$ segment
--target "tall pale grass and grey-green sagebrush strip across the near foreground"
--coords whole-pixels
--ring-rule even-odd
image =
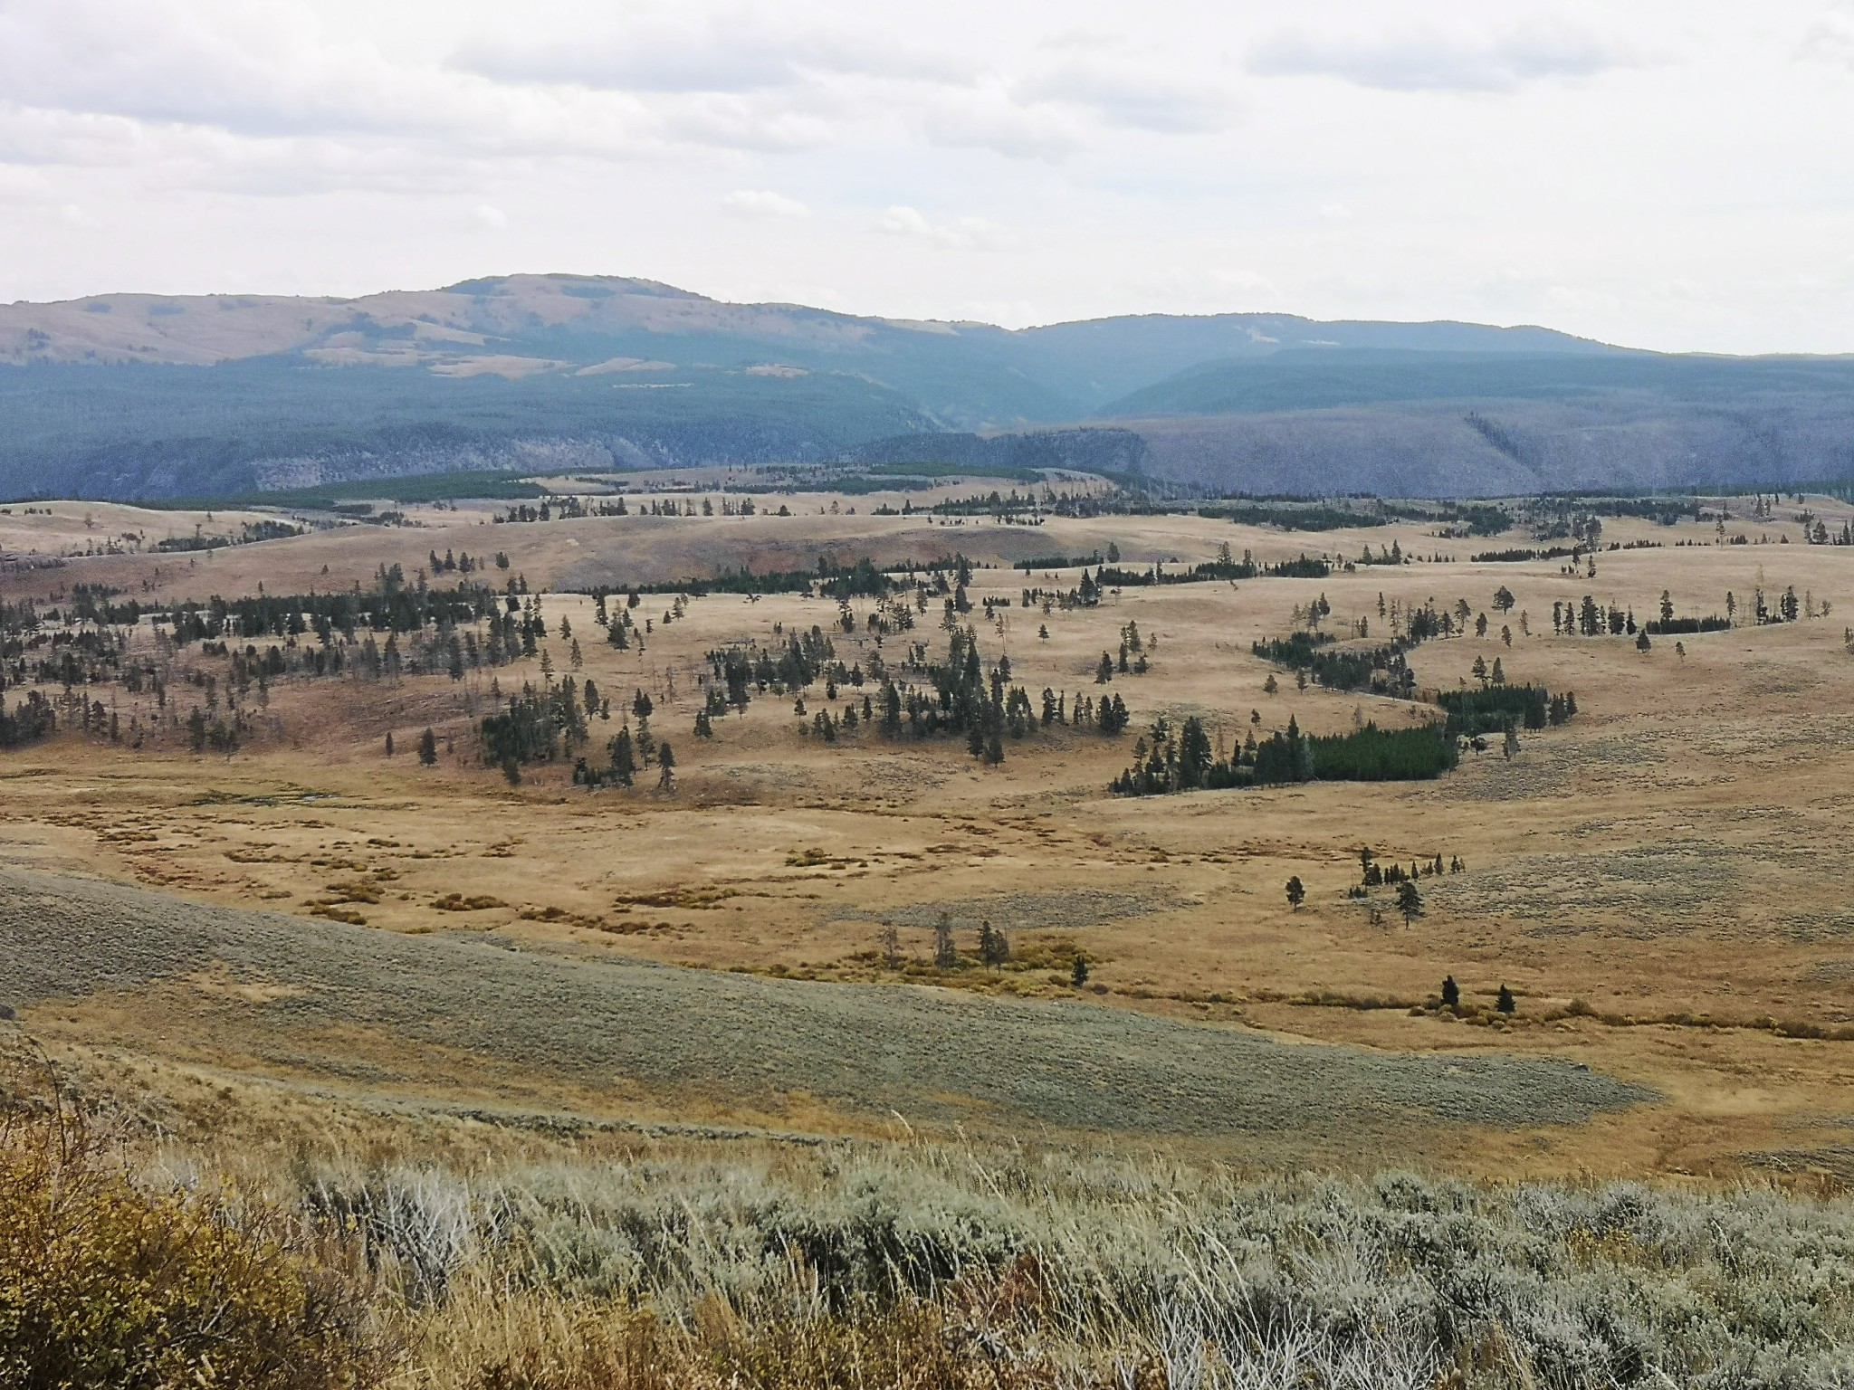
[[[9,1212],[70,1186],[7,1142]],[[391,1362],[412,1390],[1854,1386],[1854,1203],[1776,1190],[1244,1179],[929,1144],[467,1173],[83,1164],[137,1231],[167,1223],[158,1244],[219,1271],[235,1295],[213,1308],[319,1349],[313,1375],[206,1383],[371,1384]],[[74,1249],[85,1277],[121,1279],[124,1247]],[[44,1320],[20,1312],[56,1292],[20,1281],[33,1258],[0,1238],[0,1366],[22,1364],[17,1329]],[[323,1286],[345,1290],[339,1318],[310,1316]],[[208,1303],[165,1307],[184,1327]],[[89,1346],[89,1323],[63,1327]]]

